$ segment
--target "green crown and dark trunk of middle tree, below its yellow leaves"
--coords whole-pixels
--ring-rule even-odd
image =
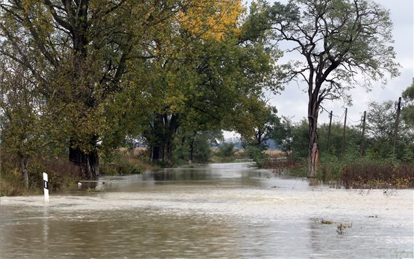
[[[189,40],[185,35],[177,37]],[[149,86],[146,91],[152,101],[146,103],[157,103],[142,122],[154,162],[171,160],[172,142],[180,127],[184,132],[224,128],[251,133],[250,125],[257,117],[251,111],[262,106],[263,87],[273,85],[276,55],[264,44],[240,43],[240,37],[228,33],[221,41],[191,39],[191,48],[177,53],[179,58],[148,60],[143,76],[131,71],[133,84],[145,81]]]

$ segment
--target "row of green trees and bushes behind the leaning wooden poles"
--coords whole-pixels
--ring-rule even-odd
[[[345,153],[354,157],[367,156],[372,159],[393,159],[402,162],[414,162],[414,83],[402,93],[404,106],[402,119],[397,128],[397,142],[393,151],[393,140],[397,107],[395,101],[388,100],[382,103],[371,102],[366,111],[366,131],[362,135],[362,121],[360,124],[346,126]],[[329,125],[322,124],[317,131],[319,152],[321,155],[342,156],[342,139],[344,131],[344,118],[342,122],[333,122],[328,146]],[[349,122],[349,121],[348,121]],[[276,129],[274,140],[282,146],[286,155],[293,158],[308,156],[306,145],[308,143],[308,124],[306,119],[293,122],[284,118]]]

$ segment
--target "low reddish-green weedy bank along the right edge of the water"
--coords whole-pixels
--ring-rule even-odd
[[[303,178],[306,178],[308,170],[306,159],[281,160],[273,157],[265,160],[263,165],[275,173]],[[369,157],[347,156],[341,159],[328,155],[319,160],[316,179],[346,189],[414,188],[414,164]]]

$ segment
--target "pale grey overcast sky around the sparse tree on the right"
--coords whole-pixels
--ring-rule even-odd
[[[394,23],[393,44],[395,52],[397,52],[396,61],[400,63],[400,77],[388,79],[388,84],[382,88],[380,83],[373,84],[373,90],[366,93],[364,88],[357,87],[351,90],[350,93],[353,99],[353,106],[348,107],[348,120],[346,124],[359,123],[364,111],[368,110],[369,102],[384,102],[386,100],[397,101],[401,96],[402,91],[411,85],[414,74],[414,5],[413,0],[374,0],[380,3],[384,8],[390,10],[391,19]],[[273,1],[270,1],[273,2]],[[282,3],[287,1],[282,0]],[[290,53],[285,53],[282,60],[286,61],[292,59],[289,57]],[[294,121],[307,117],[308,113],[308,96],[303,93],[306,86],[303,83],[293,83],[285,86],[285,90],[279,95],[268,93],[267,99],[269,103],[275,106],[279,117],[281,115],[293,117]],[[328,111],[333,111],[333,121],[339,121],[344,114],[344,103],[340,100],[331,102],[326,100],[323,103],[324,108]],[[343,122],[343,117],[342,120]],[[324,112],[319,115],[319,124],[329,122],[328,113]],[[232,133],[225,133],[225,137],[232,137]]]

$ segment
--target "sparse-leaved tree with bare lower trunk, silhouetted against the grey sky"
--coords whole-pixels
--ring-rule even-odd
[[[371,89],[398,75],[388,10],[369,0],[290,0],[268,8],[277,41],[293,46],[302,60],[282,66],[284,81],[299,79],[308,93],[308,177],[315,177],[317,119],[326,99],[347,99],[355,85]]]

